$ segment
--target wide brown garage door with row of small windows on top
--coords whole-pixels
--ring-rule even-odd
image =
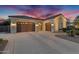
[[[35,24],[32,22],[17,22],[17,32],[35,31]]]

